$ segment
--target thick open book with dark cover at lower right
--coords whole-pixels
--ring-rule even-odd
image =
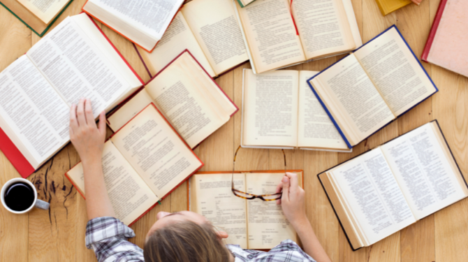
[[[319,174],[353,249],[468,196],[437,121]]]

